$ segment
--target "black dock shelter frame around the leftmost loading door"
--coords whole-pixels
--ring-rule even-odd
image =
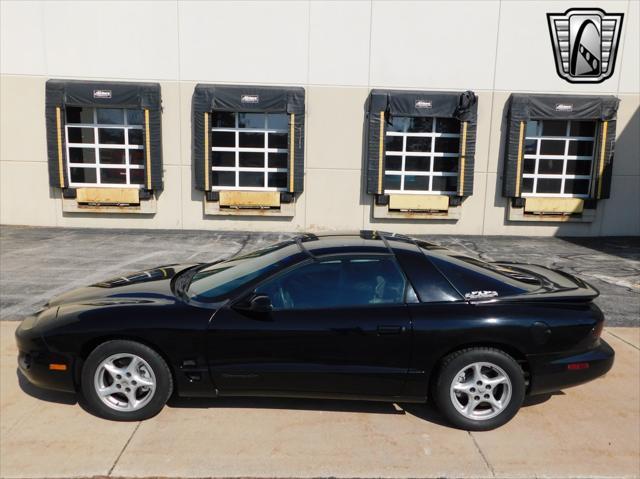
[[[68,188],[66,107],[130,108],[145,114],[145,188],[162,189],[162,97],[159,83],[48,80],[45,115],[49,184]]]

